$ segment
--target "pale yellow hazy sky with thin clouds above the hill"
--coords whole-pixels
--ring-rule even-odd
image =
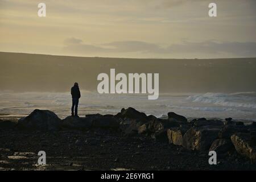
[[[38,4],[46,4],[46,17]],[[209,3],[217,17],[209,17]],[[0,51],[134,58],[256,57],[255,0],[0,0]]]

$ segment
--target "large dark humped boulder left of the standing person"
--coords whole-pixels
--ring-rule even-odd
[[[55,113],[49,110],[35,109],[27,117],[18,121],[18,127],[31,130],[59,130],[61,119]]]

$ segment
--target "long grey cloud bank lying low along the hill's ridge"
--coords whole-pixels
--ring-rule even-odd
[[[191,55],[217,55],[228,57],[253,57],[256,56],[256,42],[216,42],[208,40],[205,42],[183,42],[162,47],[157,44],[141,41],[110,42],[100,45],[85,44],[81,39],[68,38],[64,41],[66,45],[63,50],[69,53],[102,54],[112,53],[141,53],[142,55],[179,55],[189,57]],[[125,56],[124,56],[125,57]],[[214,56],[215,57],[215,56]]]

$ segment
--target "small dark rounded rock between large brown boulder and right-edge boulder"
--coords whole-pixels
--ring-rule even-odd
[[[209,151],[215,151],[218,154],[226,154],[234,151],[234,145],[230,139],[216,139],[210,146]]]

